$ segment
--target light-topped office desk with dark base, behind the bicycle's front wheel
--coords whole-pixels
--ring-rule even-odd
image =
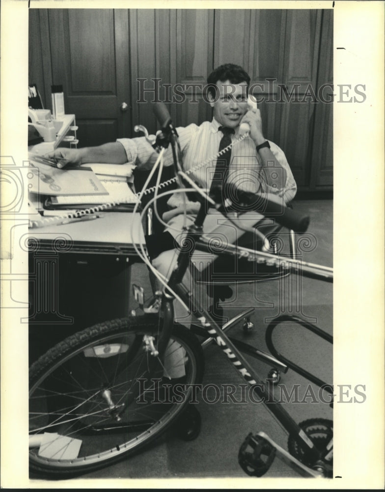
[[[31,360],[76,331],[129,314],[130,266],[140,261],[133,243],[145,244],[140,216],[100,214],[29,229]]]

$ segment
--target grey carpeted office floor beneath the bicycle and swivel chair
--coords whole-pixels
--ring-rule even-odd
[[[332,201],[299,200],[294,203],[299,212],[311,217],[307,233],[298,237],[300,254],[304,261],[332,266]],[[147,270],[142,264],[132,267],[132,281],[150,292]],[[284,283],[286,282],[286,283]],[[282,297],[282,292],[288,292]],[[291,293],[295,295],[292,296]],[[284,299],[285,306],[282,306]],[[135,301],[133,301],[135,302]],[[271,319],[282,312],[300,316],[305,321],[332,333],[332,284],[296,275],[285,280],[274,280],[255,284],[240,284],[233,298],[222,304],[224,314],[232,316],[242,308],[255,307],[251,314],[254,330],[245,334],[242,321],[230,330],[230,335],[247,341],[260,350],[268,351],[265,331]],[[278,352],[287,355],[325,382],[332,382],[331,345],[304,330],[298,324],[282,324],[274,336]],[[205,350],[206,369],[203,384],[215,383],[236,386],[235,395],[241,400],[243,380],[234,371],[217,346]],[[249,359],[261,378],[266,378],[270,367],[255,359]],[[319,390],[315,385],[293,370],[282,374],[279,387],[285,386],[290,393],[298,385],[299,401],[289,402],[285,408],[296,422],[320,417],[332,419],[332,409],[320,402]],[[150,449],[113,464],[102,470],[88,473],[82,478],[197,478],[197,477],[246,477],[238,464],[238,451],[249,432],[264,431],[280,446],[287,449],[287,434],[265,405],[246,399],[236,404],[223,402],[208,403],[200,398],[197,406],[202,417],[199,436],[190,442],[165,434]],[[325,397],[327,399],[327,397]],[[245,400],[244,400],[245,401]],[[276,459],[268,472],[269,477],[295,477],[296,473],[285,463]]]

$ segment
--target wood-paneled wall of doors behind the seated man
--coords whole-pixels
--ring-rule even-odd
[[[155,132],[154,91],[141,94],[140,86],[159,84],[161,100],[167,91],[175,96],[169,109],[177,125],[211,119],[196,84],[204,87],[221,63],[240,64],[258,84],[265,136],[284,150],[298,185],[330,189],[331,105],[314,103],[309,86],[317,95],[332,83],[332,33],[332,11],[319,9],[31,9],[29,80],[46,107],[51,84],[63,84],[66,112],[76,114],[86,146],[135,136],[138,123]],[[297,101],[279,102],[279,84],[297,91]]]

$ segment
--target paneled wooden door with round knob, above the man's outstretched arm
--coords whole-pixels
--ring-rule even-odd
[[[63,85],[65,112],[76,115],[80,146],[129,136],[127,9],[49,9],[41,14],[49,30],[51,83]],[[46,87],[47,107],[51,107],[50,89]]]

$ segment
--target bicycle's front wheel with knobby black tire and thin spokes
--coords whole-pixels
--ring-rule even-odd
[[[182,401],[173,401],[159,381],[171,373],[171,364],[143,350],[145,336],[156,342],[158,332],[156,314],[107,321],[59,342],[32,364],[32,472],[59,478],[104,467],[145,447],[181,415],[189,390]],[[185,383],[201,382],[204,357],[196,337],[175,325],[167,361],[174,347],[185,351]],[[45,440],[31,447],[44,433]]]

